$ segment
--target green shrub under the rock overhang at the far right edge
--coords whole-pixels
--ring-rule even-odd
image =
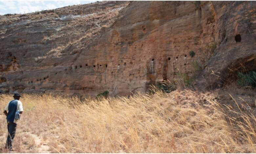
[[[240,87],[256,87],[256,72],[250,71],[248,73],[238,72],[237,85]]]

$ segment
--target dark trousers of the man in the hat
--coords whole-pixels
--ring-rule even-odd
[[[7,121],[8,137],[5,144],[5,148],[9,150],[12,149],[13,138],[16,133],[16,126],[17,124]]]

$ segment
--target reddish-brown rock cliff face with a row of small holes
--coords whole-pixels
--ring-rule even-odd
[[[217,48],[195,85],[216,87],[239,62],[256,70],[255,14],[254,1],[104,1],[0,16],[0,92],[146,91],[179,73],[190,78],[211,42]]]

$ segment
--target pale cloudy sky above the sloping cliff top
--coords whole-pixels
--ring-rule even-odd
[[[100,0],[98,0],[100,1]],[[0,15],[23,14],[41,10],[51,10],[77,4],[88,4],[96,1],[1,1]]]

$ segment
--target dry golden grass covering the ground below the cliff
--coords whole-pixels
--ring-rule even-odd
[[[12,97],[0,97],[3,111]],[[82,101],[23,94],[15,152],[255,153],[255,116],[215,98],[188,90]],[[4,116],[0,122],[4,147]]]

